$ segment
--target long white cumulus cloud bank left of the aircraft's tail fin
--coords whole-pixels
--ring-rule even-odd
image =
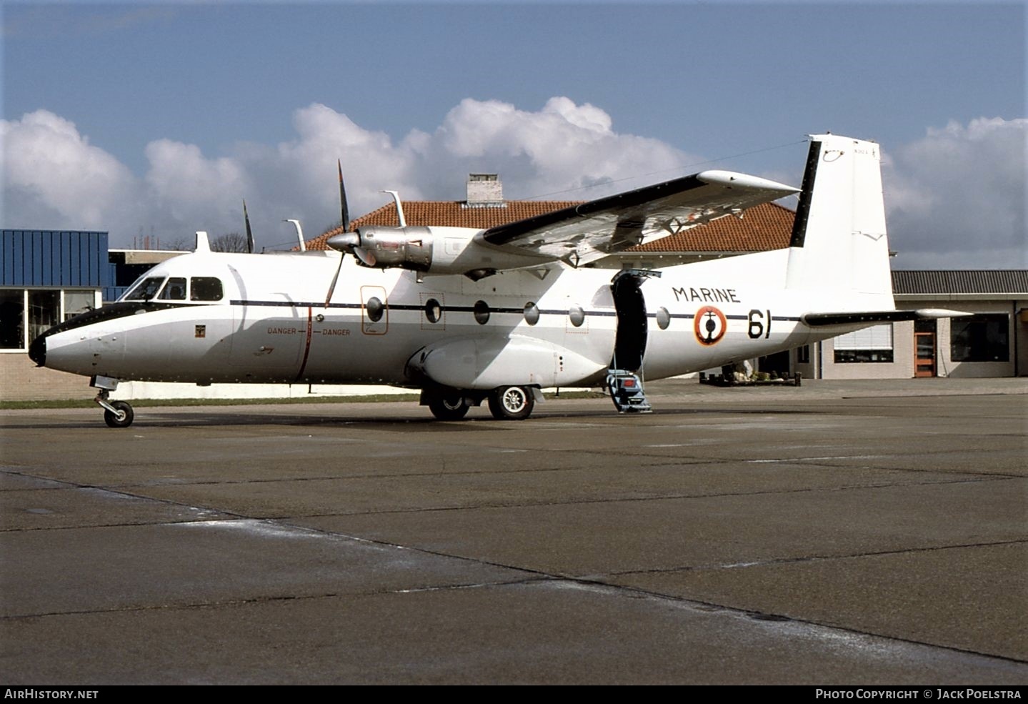
[[[320,104],[296,110],[293,127],[291,141],[241,143],[218,156],[157,139],[138,177],[53,113],[4,121],[4,225],[106,229],[119,247],[153,231],[168,243],[195,229],[241,230],[245,197],[258,244],[270,245],[291,237],[283,218],[300,218],[308,236],[338,219],[336,158],[354,216],[386,203],[386,188],[405,199],[458,199],[472,172],[499,173],[508,197],[586,199],[657,180],[646,175],[693,158],[619,135],[605,112],[567,98],[537,112],[468,99],[435,132],[411,131],[399,142]],[[636,178],[612,185],[626,175]],[[595,184],[605,188],[587,188]]]

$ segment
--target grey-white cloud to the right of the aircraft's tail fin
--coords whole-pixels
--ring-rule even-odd
[[[930,128],[890,150],[883,180],[898,268],[1023,268],[1028,119]]]

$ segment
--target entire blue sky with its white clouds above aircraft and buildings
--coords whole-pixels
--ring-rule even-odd
[[[800,141],[830,129],[889,157],[892,246],[916,253],[902,264],[1025,265],[1022,3],[2,11],[4,227],[174,239],[238,229],[247,197],[278,240],[284,217],[328,224],[337,156],[357,212],[383,188],[458,199],[479,170],[509,197],[585,199],[711,164],[798,184]],[[45,183],[26,175],[40,159]]]

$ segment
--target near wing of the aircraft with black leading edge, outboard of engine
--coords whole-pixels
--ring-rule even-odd
[[[480,236],[518,254],[579,266],[799,190],[756,176],[705,171],[498,225]]]

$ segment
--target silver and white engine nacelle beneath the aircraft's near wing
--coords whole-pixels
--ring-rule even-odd
[[[350,252],[365,266],[404,268],[432,274],[463,273],[475,281],[500,269],[539,266],[548,258],[505,251],[483,243],[481,230],[466,227],[386,227],[371,225],[328,238],[328,246]]]

